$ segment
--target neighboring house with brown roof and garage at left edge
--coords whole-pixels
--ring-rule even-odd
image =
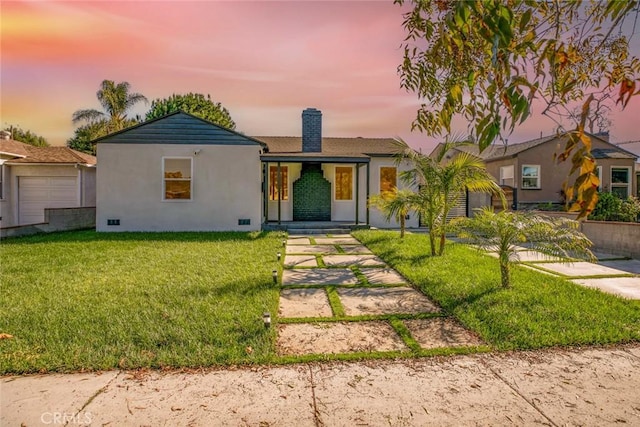
[[[45,208],[96,204],[96,158],[68,147],[0,139],[0,227],[44,222]]]

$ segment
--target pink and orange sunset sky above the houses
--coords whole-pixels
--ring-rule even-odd
[[[3,0],[0,13],[1,125],[54,145],[73,135],[74,111],[100,108],[104,79],[150,101],[211,94],[247,135],[298,136],[302,110],[316,107],[324,136],[401,137],[425,150],[436,142],[411,132],[419,101],[400,88],[402,9],[391,0]],[[640,96],[611,118],[613,142],[639,140]],[[534,115],[509,141],[554,128]]]

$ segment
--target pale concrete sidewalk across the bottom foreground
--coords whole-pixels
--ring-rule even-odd
[[[640,344],[3,377],[0,425],[640,425]]]

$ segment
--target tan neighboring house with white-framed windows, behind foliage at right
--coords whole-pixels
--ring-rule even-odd
[[[590,135],[591,154],[596,160],[600,189],[622,198],[635,195],[635,163],[638,156],[609,143],[608,134]],[[567,135],[553,135],[519,144],[491,145],[478,154],[475,146],[459,150],[479,155],[498,184],[513,188],[518,208],[563,203],[562,183],[567,180],[571,159],[558,163],[554,153],[564,149]],[[436,147],[437,149],[437,147]],[[572,175],[570,183],[576,178]]]

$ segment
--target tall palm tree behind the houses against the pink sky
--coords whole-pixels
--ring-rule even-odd
[[[104,121],[105,135],[138,123],[138,120],[128,118],[127,113],[139,102],[146,104],[147,98],[140,93],[130,93],[130,89],[128,82],[116,84],[112,80],[103,80],[96,96],[104,112],[95,109],[78,110],[73,113],[73,123],[95,124]]]

